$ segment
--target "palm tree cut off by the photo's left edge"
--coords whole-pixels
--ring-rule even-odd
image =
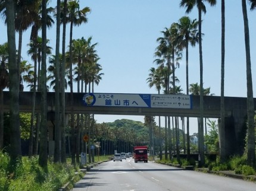
[[[8,44],[0,44],[0,150],[4,147],[4,88],[9,86]]]

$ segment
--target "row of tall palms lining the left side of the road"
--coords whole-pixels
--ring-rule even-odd
[[[8,4],[9,2],[11,2],[11,4]],[[10,6],[7,6],[10,5]],[[15,8],[14,8],[15,7]],[[90,9],[88,7],[80,9],[79,8],[79,1],[64,1],[64,2],[57,2],[57,42],[56,42],[56,55],[55,55],[55,65],[54,67],[56,67],[57,69],[55,69],[54,72],[54,89],[57,92],[57,94],[59,94],[59,92],[62,93],[61,96],[61,100],[65,100],[64,98],[64,92],[65,92],[65,87],[67,85],[67,83],[65,82],[65,61],[66,59],[62,59],[61,61],[61,65],[60,65],[60,55],[59,55],[59,33],[60,33],[60,23],[63,24],[63,41],[65,42],[65,24],[66,23],[70,23],[71,27],[70,27],[70,44],[71,46],[73,46],[72,43],[72,30],[73,30],[73,26],[79,26],[82,23],[86,23],[88,21],[88,18],[86,18],[86,14],[90,11]],[[21,62],[21,49],[18,50],[18,59],[15,61],[14,63],[14,59],[16,58],[16,56],[12,57],[12,63],[9,61],[9,65],[8,67],[13,69],[13,66],[17,66],[17,77],[18,79],[20,79],[20,83],[19,84],[23,84],[23,80],[26,82],[30,83],[30,89],[35,91],[41,91],[41,111],[42,113],[40,113],[40,115],[38,114],[37,116],[40,116],[40,119],[37,119],[37,122],[40,122],[40,154],[39,154],[39,163],[40,165],[42,165],[43,167],[46,166],[46,151],[47,151],[47,144],[46,144],[46,132],[47,129],[45,128],[46,126],[46,91],[48,90],[48,87],[46,86],[46,80],[47,78],[52,78],[52,77],[46,77],[46,55],[49,54],[48,52],[48,46],[46,45],[48,40],[46,39],[46,27],[51,27],[52,24],[54,23],[54,20],[52,20],[51,18],[51,13],[54,11],[53,8],[49,7],[48,8],[48,1],[42,1],[42,0],[38,0],[38,1],[1,1],[0,2],[0,11],[3,15],[6,15],[6,20],[5,22],[8,24],[8,34],[13,34],[15,33],[15,29],[16,31],[19,32],[20,36],[19,36],[19,48],[21,47],[21,43],[22,43],[22,32],[27,30],[27,28],[29,28],[30,26],[32,27],[32,32],[31,32],[31,37],[30,40],[31,42],[29,43],[30,46],[30,50],[29,50],[29,54],[32,55],[32,60],[34,61],[34,70],[35,71],[30,71],[29,74],[26,75],[26,77],[24,78],[20,78],[20,74],[22,74],[23,72],[20,72],[20,65],[24,65],[23,62]],[[15,13],[14,15],[15,20],[11,17],[10,12],[8,11],[17,11],[17,13]],[[15,23],[11,23],[11,21],[14,20]],[[10,23],[9,23],[10,22]],[[14,25],[14,29],[12,28]],[[38,31],[42,29],[42,38],[38,37]],[[10,33],[9,33],[10,30]],[[11,31],[13,30],[13,31]],[[11,33],[13,32],[13,33]],[[83,58],[83,65],[81,66],[81,71],[85,71],[83,72],[83,74],[79,74],[79,78],[82,79],[82,84],[85,85],[89,85],[92,84],[92,88],[93,88],[93,84],[97,84],[99,83],[99,81],[101,80],[101,75],[103,75],[102,73],[100,73],[101,71],[101,65],[98,64],[99,58],[98,55],[96,55],[95,49],[94,47],[96,46],[96,44],[90,44],[90,40],[92,38],[90,37],[88,39],[88,41],[86,42],[86,46],[88,46],[89,44],[89,48],[86,49],[87,52],[85,52],[85,54],[83,55],[85,58]],[[12,42],[11,40],[8,41],[8,43],[10,44],[9,50],[15,50],[13,48],[14,46],[14,42]],[[13,43],[13,44],[12,44]],[[70,47],[71,47],[70,46]],[[11,48],[10,48],[11,47]],[[65,51],[65,43],[63,43],[63,50]],[[12,55],[11,53],[8,53],[8,55]],[[65,58],[65,53],[63,54],[63,58]],[[70,73],[73,72],[73,50],[70,48]],[[86,63],[87,62],[87,63]],[[13,64],[13,65],[12,65]],[[60,69],[58,69],[61,66],[61,74],[58,74],[58,71],[60,71]],[[89,68],[87,66],[89,66]],[[8,86],[9,84],[9,80],[5,80],[4,82],[4,74],[8,74],[10,72],[8,72],[8,69],[6,67],[4,67],[4,65],[1,65],[1,91],[4,90],[5,87]],[[5,65],[7,66],[7,65]],[[31,69],[31,66],[30,66]],[[13,70],[15,71],[15,69]],[[8,77],[12,76],[13,77],[14,74],[8,74]],[[32,77],[33,75],[33,77]],[[5,75],[7,77],[7,75]],[[70,75],[70,85],[71,85],[71,92],[73,90],[73,74]],[[90,77],[89,77],[90,76]],[[39,78],[40,77],[40,78]],[[8,79],[8,78],[5,78]],[[14,85],[14,78],[10,79],[10,84]],[[52,78],[53,79],[53,78]],[[7,84],[8,82],[8,84]],[[79,79],[80,82],[80,79]],[[32,84],[33,83],[33,84]],[[4,85],[5,84],[5,85]],[[58,85],[60,84],[61,86],[61,90],[58,90]],[[83,85],[81,85],[83,88]],[[63,88],[64,87],[64,88]],[[80,87],[80,85],[79,85]],[[86,88],[85,88],[86,89]],[[10,91],[14,90],[14,86],[10,87]],[[15,90],[17,90],[17,88],[15,88]],[[12,92],[13,93],[13,92]],[[33,93],[33,100],[35,100],[35,93]],[[57,95],[56,94],[56,95]],[[1,94],[0,94],[1,95]],[[14,96],[14,94],[12,94]],[[17,94],[16,94],[17,95]],[[58,96],[58,95],[57,95]],[[1,96],[2,97],[2,96]],[[14,96],[14,98],[17,100],[17,97]],[[56,98],[56,100],[60,100],[59,98]],[[57,101],[56,101],[57,102]],[[17,104],[17,101],[13,101],[14,104]],[[30,146],[29,146],[29,155],[32,155],[32,148],[33,148],[33,142],[38,142],[38,141],[33,141],[33,133],[34,132],[34,125],[35,123],[33,122],[33,119],[35,118],[35,101],[33,101],[33,105],[34,105],[34,112],[32,112],[32,120],[31,120],[31,136],[30,136]],[[61,107],[62,110],[64,109],[64,101],[61,101]],[[15,111],[17,112],[17,107],[15,107]],[[58,110],[58,109],[57,109]],[[57,112],[59,113],[59,112]],[[0,112],[0,130],[1,130],[1,136],[3,135],[2,133],[2,116],[3,116],[3,111],[1,110]],[[12,115],[12,116],[15,116]],[[57,116],[56,119],[62,119],[62,123],[61,123],[61,131],[57,130],[57,132],[61,132],[61,139],[65,141],[65,120],[63,120],[65,117],[64,112],[63,115]],[[14,120],[15,122],[17,122],[18,124],[18,120]],[[13,126],[15,126],[17,128],[17,124],[13,124]],[[57,125],[60,126],[60,125]],[[14,128],[13,128],[14,130]],[[16,131],[17,129],[16,129]],[[15,134],[18,136],[18,134]],[[37,130],[37,135],[39,135],[39,130]],[[57,135],[55,133],[55,135]],[[20,137],[20,136],[19,136]],[[59,137],[59,138],[58,138]],[[2,146],[2,138],[0,137],[0,146],[1,148]],[[17,155],[13,155],[14,157],[17,157],[18,155],[20,155],[20,152],[16,152],[18,151],[17,149],[20,148],[20,144],[17,144],[18,141],[20,139],[15,139],[14,141],[14,149],[12,149],[12,151],[14,151],[15,154]],[[60,140],[60,136],[57,135],[57,140]],[[63,142],[64,142],[63,141]],[[58,144],[55,144],[58,145]],[[65,154],[63,154],[63,145],[65,144],[61,144],[62,148],[61,148],[61,157],[58,154],[58,151],[60,151],[60,148],[55,148],[55,151],[57,151],[57,155],[55,156],[55,161],[61,161],[65,162]],[[16,149],[17,148],[17,149]],[[36,152],[35,152],[36,153]],[[12,158],[13,161],[15,161],[14,158]],[[74,161],[74,160],[73,160]]]

